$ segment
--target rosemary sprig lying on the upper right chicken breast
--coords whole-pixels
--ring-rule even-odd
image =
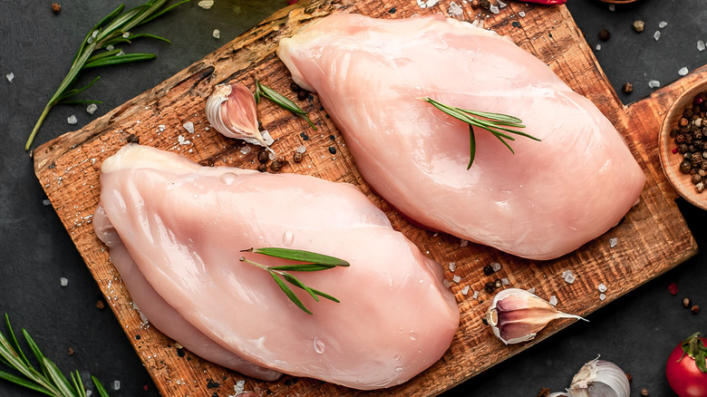
[[[476,138],[474,137],[474,127],[482,128],[493,134],[498,140],[503,143],[511,153],[515,154],[513,148],[507,140],[516,140],[513,136],[508,135],[505,132],[512,134],[517,134],[530,138],[531,140],[540,140],[526,132],[518,131],[518,129],[525,128],[526,126],[522,124],[523,121],[518,119],[518,117],[509,116],[508,114],[502,113],[490,113],[488,111],[470,111],[468,109],[456,108],[450,105],[445,105],[444,103],[437,102],[429,97],[421,98],[424,102],[430,102],[435,108],[444,111],[451,117],[454,117],[460,121],[464,121],[469,124],[469,140],[470,140],[470,159],[467,169],[471,168],[471,164],[474,162],[476,157]],[[504,132],[505,131],[505,132]]]

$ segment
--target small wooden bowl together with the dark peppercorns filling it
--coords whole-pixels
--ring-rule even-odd
[[[673,102],[658,139],[663,172],[673,188],[707,209],[707,81],[692,85]]]

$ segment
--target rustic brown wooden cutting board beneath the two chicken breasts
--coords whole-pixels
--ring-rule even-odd
[[[481,10],[464,4],[461,19],[473,21],[481,15],[485,27],[512,37],[523,49],[547,63],[576,92],[595,102],[624,135],[647,175],[647,182],[640,202],[622,223],[576,252],[547,262],[511,257],[489,247],[465,245],[459,238],[410,225],[373,194],[356,169],[344,139],[315,96],[300,104],[310,111],[318,131],[309,129],[304,121],[272,103],[262,102],[258,107],[260,121],[276,139],[273,149],[278,155],[290,160],[297,147],[306,148],[302,162],[290,161],[280,172],[309,174],[357,185],[386,212],[394,228],[444,266],[461,312],[460,328],[449,351],[411,382],[383,391],[360,392],[290,376],[278,382],[252,380],[200,360],[143,322],[111,265],[107,250],[93,233],[91,220],[99,199],[102,160],[119,150],[127,140],[137,138],[141,144],[175,151],[204,165],[255,169],[256,148],[247,152],[245,148],[250,147],[243,142],[225,139],[208,126],[204,104],[214,85],[238,81],[252,89],[253,78],[257,76],[277,91],[293,97],[289,73],[277,59],[275,50],[279,38],[291,35],[302,24],[342,12],[381,18],[446,14],[449,4],[449,0],[443,0],[430,8],[421,8],[412,0],[301,2],[276,13],[247,34],[82,130],[66,133],[34,150],[37,178],[162,395],[200,397],[213,392],[229,395],[235,382],[240,380],[246,381],[247,390],[255,390],[263,396],[439,394],[573,322],[553,322],[528,344],[501,344],[481,322],[491,298],[484,291],[485,283],[497,278],[507,279],[510,286],[535,288],[536,294],[546,299],[555,295],[557,307],[565,312],[588,315],[696,252],[692,234],[673,201],[676,194],[663,176],[657,134],[664,112],[673,99],[686,84],[707,76],[707,67],[664,87],[650,98],[625,107],[565,6],[508,2],[508,7],[493,15],[479,14]],[[183,128],[188,121],[194,123],[194,133]],[[336,150],[335,154],[330,148]],[[454,272],[448,269],[451,262],[456,264]],[[498,262],[502,268],[492,276],[485,276],[482,268],[492,262]],[[576,276],[573,284],[562,278],[566,270]],[[459,276],[460,281],[454,282],[454,276]],[[604,300],[597,290],[599,284],[607,287]],[[462,292],[465,286],[470,287],[467,295]],[[473,297],[474,291],[479,291],[477,298]]]

